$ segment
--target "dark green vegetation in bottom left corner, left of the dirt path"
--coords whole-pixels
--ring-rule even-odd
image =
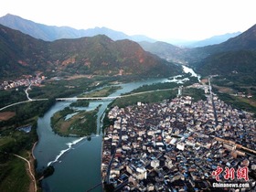
[[[16,155],[27,155],[37,141],[36,124],[30,133],[16,129],[1,130],[0,136],[0,191],[28,191],[29,176],[25,162]],[[10,185],[11,184],[11,185]]]

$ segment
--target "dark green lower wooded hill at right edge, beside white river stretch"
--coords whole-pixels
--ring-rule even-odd
[[[234,84],[256,85],[256,51],[238,50],[214,54],[197,64],[203,75],[221,76]]]

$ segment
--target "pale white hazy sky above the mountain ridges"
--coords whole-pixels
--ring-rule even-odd
[[[204,39],[256,24],[255,0],[2,0],[7,13],[49,26],[108,27],[157,40]]]

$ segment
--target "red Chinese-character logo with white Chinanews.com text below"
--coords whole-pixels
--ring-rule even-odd
[[[211,176],[215,176],[217,181],[212,184],[212,187],[215,188],[250,188],[247,166],[239,167],[237,170],[235,170],[235,168],[225,167],[224,170],[218,165],[216,170],[212,172]],[[225,182],[220,182],[220,176],[223,176]],[[227,181],[231,182],[229,183]],[[233,183],[232,181],[236,181],[236,183]]]

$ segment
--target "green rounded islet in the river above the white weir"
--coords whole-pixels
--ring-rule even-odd
[[[62,136],[84,136],[96,133],[98,109],[99,107],[90,112],[74,113],[74,110],[66,107],[51,117],[53,131]],[[73,116],[66,120],[68,114],[72,114]]]

